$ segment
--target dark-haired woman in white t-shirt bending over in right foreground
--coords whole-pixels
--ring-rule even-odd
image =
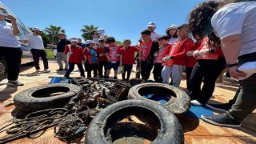
[[[256,61],[256,2],[226,0],[202,2],[190,13],[190,28],[202,28],[203,35],[214,35],[212,42],[221,42],[229,73],[233,78],[246,77],[238,66]],[[196,14],[206,13],[199,18]],[[238,62],[238,63],[237,63]],[[256,74],[240,80],[236,101],[225,114],[202,115],[202,119],[218,126],[239,127],[240,122],[256,108]]]

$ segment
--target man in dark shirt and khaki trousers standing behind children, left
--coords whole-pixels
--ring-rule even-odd
[[[63,64],[62,64],[62,60],[65,62],[65,69],[67,70],[68,68],[68,63],[66,61],[66,55],[64,54],[64,50],[65,50],[65,46],[70,44],[70,41],[66,39],[66,34],[62,33],[62,32],[58,32],[58,38],[59,41],[57,43],[57,63],[59,66],[59,69],[56,71],[62,71],[63,70]]]

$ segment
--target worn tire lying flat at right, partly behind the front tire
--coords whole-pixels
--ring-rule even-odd
[[[170,98],[170,101],[166,102],[166,104],[162,104],[173,114],[183,114],[189,110],[191,106],[190,97],[183,90],[162,83],[142,83],[137,86],[133,86],[129,90],[128,98],[155,102],[153,100],[143,98],[142,95],[144,94],[168,94],[170,97],[174,97]]]

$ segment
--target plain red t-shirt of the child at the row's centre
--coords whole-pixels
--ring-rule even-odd
[[[120,54],[122,54],[122,64],[123,65],[130,65],[135,63],[135,52],[139,49],[134,46],[129,46],[128,49],[122,47],[120,49]]]

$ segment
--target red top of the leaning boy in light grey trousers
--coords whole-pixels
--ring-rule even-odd
[[[169,62],[166,62],[166,66],[182,65],[186,66],[186,52],[190,51],[194,45],[191,38],[178,39],[171,45],[169,56],[174,56]]]

